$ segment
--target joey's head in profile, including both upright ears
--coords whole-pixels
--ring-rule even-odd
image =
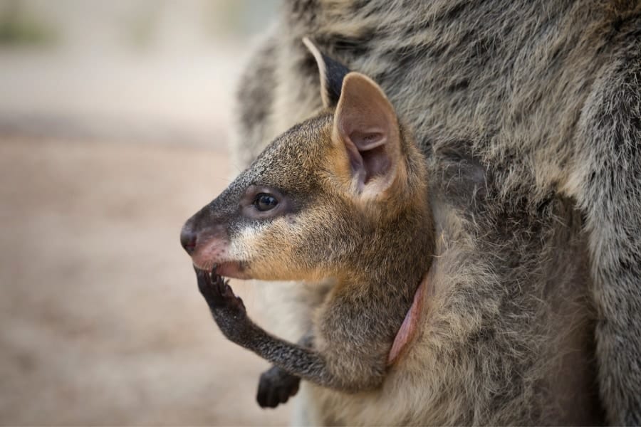
[[[424,159],[383,91],[306,44],[325,108],[189,218],[181,243],[197,268],[262,280],[350,274],[427,206]]]

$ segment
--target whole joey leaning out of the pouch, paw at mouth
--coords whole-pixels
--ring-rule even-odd
[[[181,235],[222,332],[276,365],[264,381],[286,384],[276,398],[264,390],[264,406],[295,393],[296,377],[350,392],[380,386],[411,335],[434,245],[425,159],[389,100],[306,44],[325,108],[276,138]],[[334,285],[293,344],[252,322],[221,276]]]

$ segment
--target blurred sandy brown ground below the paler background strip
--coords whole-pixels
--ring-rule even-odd
[[[0,137],[0,424],[287,423],[291,404],[254,403],[267,364],[222,337],[179,246],[231,167],[223,151]]]

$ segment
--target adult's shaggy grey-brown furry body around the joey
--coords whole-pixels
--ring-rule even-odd
[[[377,391],[303,384],[297,422],[640,424],[640,2],[285,1],[237,163],[320,107],[304,36],[385,90],[440,200],[417,342]]]

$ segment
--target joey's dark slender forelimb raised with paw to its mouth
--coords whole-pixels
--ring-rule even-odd
[[[325,359],[313,349],[273,337],[249,319],[245,306],[226,281],[216,274],[195,268],[198,288],[209,305],[214,321],[232,342],[251,350],[284,371],[320,386],[358,391],[371,384],[354,384],[335,376]]]

